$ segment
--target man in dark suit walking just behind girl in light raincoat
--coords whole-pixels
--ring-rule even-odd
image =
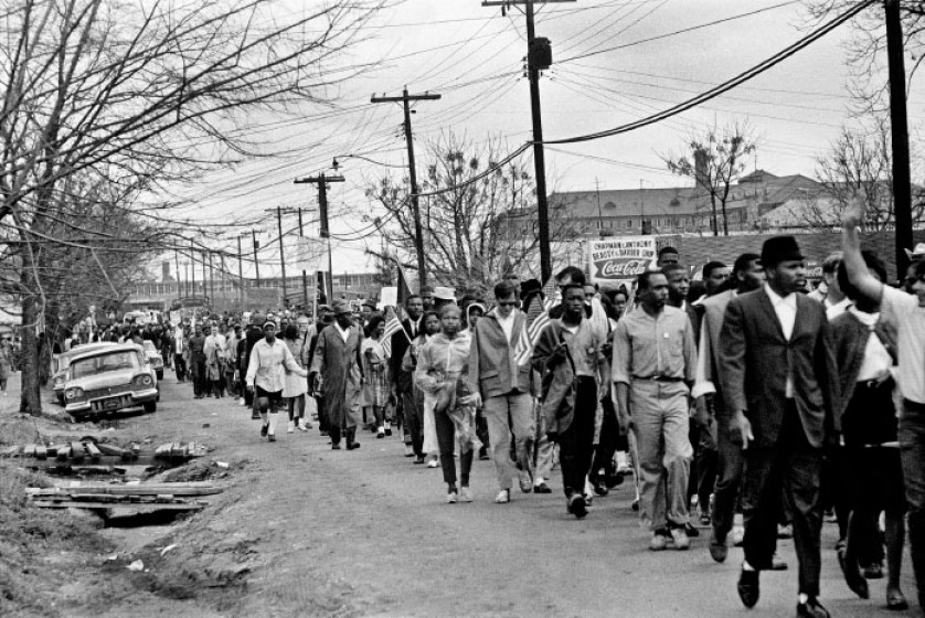
[[[424,464],[424,417],[417,414],[414,403],[414,387],[411,373],[402,370],[411,342],[421,334],[424,322],[424,301],[417,295],[405,299],[407,318],[402,320],[402,330],[392,334],[392,355],[389,356],[389,373],[392,376],[392,387],[397,402],[396,414],[402,417],[402,433],[405,440],[405,457],[416,455],[416,464]],[[423,413],[423,411],[421,411]]]

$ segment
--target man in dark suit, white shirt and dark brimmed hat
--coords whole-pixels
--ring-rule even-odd
[[[828,618],[817,597],[822,447],[838,430],[829,324],[821,305],[797,292],[806,268],[793,236],[766,241],[762,264],[767,283],[730,301],[720,334],[723,414],[745,449],[738,595],[746,607],[758,600],[758,572],[772,568],[783,494],[799,561],[797,616]]]

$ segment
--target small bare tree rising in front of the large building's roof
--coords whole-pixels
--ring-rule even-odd
[[[726,202],[732,185],[745,171],[746,158],[756,147],[747,122],[736,121],[691,135],[687,143],[690,154],[661,157],[671,173],[694,181],[698,202],[709,198],[710,227],[714,236],[720,234],[717,216],[722,216],[723,235],[729,236]]]

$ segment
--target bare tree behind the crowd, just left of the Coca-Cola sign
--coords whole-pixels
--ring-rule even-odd
[[[483,295],[499,277],[529,270],[539,249],[530,223],[535,221],[535,184],[519,162],[493,163],[507,151],[503,146],[449,134],[430,143],[425,156],[422,192],[442,192],[421,198],[424,257],[437,280],[462,292]],[[401,255],[415,255],[407,179],[385,175],[366,195],[385,210],[380,223],[386,243]],[[555,236],[562,225],[551,215]]]

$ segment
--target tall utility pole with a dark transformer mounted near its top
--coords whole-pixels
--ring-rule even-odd
[[[533,4],[574,2],[575,0],[486,0],[482,7],[508,7],[523,4],[527,15],[527,74],[530,78],[530,111],[533,117],[533,162],[536,175],[536,223],[540,232],[540,273],[545,284],[552,277],[550,249],[550,207],[546,198],[546,161],[543,152],[543,116],[540,109],[540,71],[552,65],[552,49],[549,39],[536,38]]]

